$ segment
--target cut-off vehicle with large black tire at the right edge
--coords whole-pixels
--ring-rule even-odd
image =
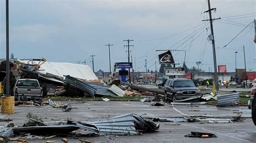
[[[249,109],[252,109],[252,120],[254,125],[256,125],[256,85],[251,89],[251,98],[248,101],[248,106]]]

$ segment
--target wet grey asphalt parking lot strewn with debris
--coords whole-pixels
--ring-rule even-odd
[[[9,115],[15,125],[22,126],[26,121],[26,113],[32,112],[34,115],[41,117],[45,124],[56,124],[58,121],[51,119],[72,119],[76,121],[97,121],[102,118],[109,118],[125,113],[137,113],[144,117],[178,117],[181,116],[172,108],[172,105],[151,106],[149,102],[104,102],[91,101],[86,103],[71,103],[73,109],[70,112],[63,112],[61,109],[45,106],[16,106],[16,112]],[[175,105],[175,107],[187,115],[203,116],[237,116],[242,111],[243,117],[251,117],[251,110],[245,106],[217,108],[210,105]],[[6,116],[1,114],[2,117]],[[0,122],[0,126],[8,123]],[[95,142],[255,142],[256,127],[251,119],[233,123],[210,124],[199,122],[180,123],[181,125],[171,125],[170,122],[161,122],[160,129],[157,132],[143,133],[143,135],[106,135],[101,137],[82,137],[86,140]],[[184,135],[190,132],[209,132],[217,135],[218,138],[187,138]],[[79,142],[77,139],[66,137],[69,142]],[[56,142],[62,142],[61,138],[50,139]],[[46,140],[28,140],[29,142],[45,142]]]

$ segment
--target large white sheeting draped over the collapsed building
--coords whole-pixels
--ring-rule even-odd
[[[33,61],[32,63],[32,61],[28,60],[19,61],[28,64],[37,64],[39,62]],[[83,80],[98,80],[98,77],[93,73],[92,69],[89,66],[79,65],[76,63],[46,61],[37,71],[42,74],[50,73],[60,77],[70,75]]]

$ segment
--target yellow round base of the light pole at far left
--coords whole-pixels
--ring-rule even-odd
[[[1,112],[2,113],[14,113],[14,96],[2,96],[2,105],[1,105]]]

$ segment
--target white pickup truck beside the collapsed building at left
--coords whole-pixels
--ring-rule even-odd
[[[14,95],[18,101],[42,99],[42,88],[36,79],[24,78],[17,80]]]

